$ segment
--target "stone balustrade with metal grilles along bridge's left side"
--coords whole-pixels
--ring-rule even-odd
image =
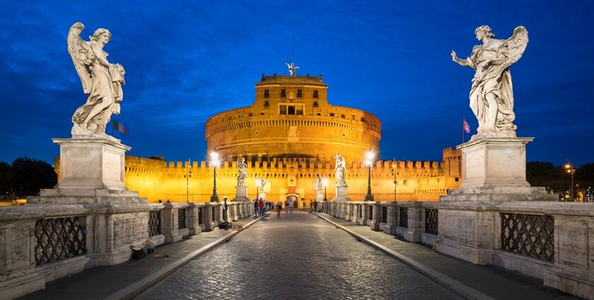
[[[230,220],[253,215],[252,203],[229,202]],[[125,215],[125,217],[124,217]],[[0,298],[45,282],[132,258],[148,248],[215,229],[221,203],[28,204],[0,214]]]

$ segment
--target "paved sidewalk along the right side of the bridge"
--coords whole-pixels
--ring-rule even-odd
[[[446,256],[421,244],[377,232],[347,220],[317,213],[318,217],[349,232],[356,239],[402,261],[466,299],[578,299],[557,289],[544,287],[542,280],[492,265],[474,265]]]

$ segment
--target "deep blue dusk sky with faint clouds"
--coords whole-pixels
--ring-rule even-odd
[[[255,100],[264,73],[324,76],[330,104],[382,121],[384,160],[437,160],[462,141],[472,68],[455,64],[489,25],[530,43],[511,67],[528,161],[594,162],[594,1],[1,1],[0,161],[53,163],[86,101],[66,50],[75,22],[107,28],[107,59],[126,69],[115,133],[129,155],[205,160],[209,116]],[[491,6],[491,4],[496,6]],[[111,130],[107,131],[108,133]],[[466,139],[470,135],[466,136]]]

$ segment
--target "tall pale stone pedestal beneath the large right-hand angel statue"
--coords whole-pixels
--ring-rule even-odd
[[[462,150],[462,184],[441,196],[437,251],[478,264],[492,264],[498,248],[499,216],[481,205],[506,201],[557,200],[544,187],[526,181],[526,148],[533,138],[475,138],[458,145]],[[415,241],[409,208],[409,230],[404,239]],[[417,230],[412,230],[414,233]]]

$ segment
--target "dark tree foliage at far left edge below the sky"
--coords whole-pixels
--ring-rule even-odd
[[[0,162],[0,196],[4,200],[36,196],[41,188],[57,184],[52,165],[42,160],[20,157],[7,164]]]

